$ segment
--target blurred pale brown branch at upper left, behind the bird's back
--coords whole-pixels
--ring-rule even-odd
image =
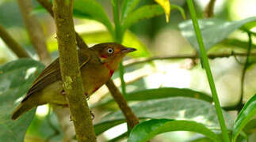
[[[35,15],[31,14],[32,2],[31,0],[17,0],[17,3],[21,9],[21,15],[25,23],[25,27],[28,30],[29,38],[33,47],[36,49],[40,61],[44,64],[51,62],[51,55],[49,54],[44,37],[43,28]]]

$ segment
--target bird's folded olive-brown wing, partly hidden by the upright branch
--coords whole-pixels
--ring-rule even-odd
[[[78,59],[79,66],[81,68],[83,65],[86,65],[86,63],[89,61],[90,54],[88,52],[78,50]],[[29,96],[33,93],[39,92],[41,89],[45,88],[49,84],[54,83],[57,80],[61,80],[59,58],[55,59],[54,62],[48,65],[46,69],[44,69],[44,71],[40,73],[36,80],[34,80],[31,88],[29,88],[29,92],[27,92],[27,95],[22,100],[22,102],[28,99]]]

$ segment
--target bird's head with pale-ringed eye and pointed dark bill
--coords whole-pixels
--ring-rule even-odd
[[[96,51],[101,63],[113,70],[118,68],[126,54],[136,50],[135,48],[124,47],[118,43],[100,43],[94,45],[91,49]]]

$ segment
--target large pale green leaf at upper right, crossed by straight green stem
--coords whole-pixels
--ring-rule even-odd
[[[220,43],[226,39],[232,32],[241,28],[244,24],[253,21],[256,21],[256,17],[249,17],[242,21],[224,21],[220,19],[199,20],[205,48],[208,50],[216,43]],[[198,50],[197,36],[195,36],[192,21],[182,22],[179,24],[179,28],[181,29],[182,36],[188,39],[189,43]]]

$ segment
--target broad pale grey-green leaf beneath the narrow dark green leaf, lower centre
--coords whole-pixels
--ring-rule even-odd
[[[185,119],[200,122],[210,128],[219,128],[215,107],[211,103],[200,99],[184,97],[153,99],[133,105],[132,110],[139,118]],[[224,117],[227,127],[231,128],[233,120],[225,111]],[[106,115],[100,123],[95,125],[95,131],[98,134],[103,133],[106,129],[110,129],[114,125],[122,122],[124,122],[124,115],[120,111],[117,111],[113,114]],[[101,125],[105,126],[104,129]],[[98,129],[100,127],[101,129]]]

